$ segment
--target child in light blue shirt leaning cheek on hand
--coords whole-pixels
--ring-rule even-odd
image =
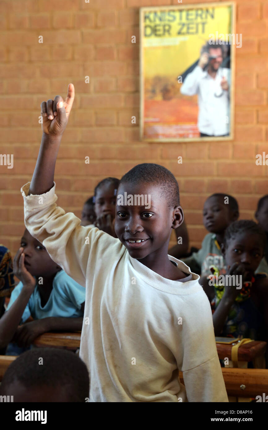
[[[52,330],[82,330],[85,289],[50,258],[28,230],[13,265],[20,282],[0,319],[0,348],[10,341],[29,347],[37,336]],[[33,321],[27,322],[30,316]]]

